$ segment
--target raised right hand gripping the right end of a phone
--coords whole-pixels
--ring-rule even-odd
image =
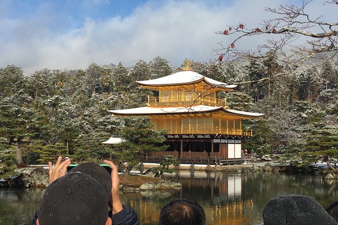
[[[120,201],[120,178],[117,173],[117,166],[112,161],[103,160],[103,162],[112,167],[112,197],[109,200],[109,207],[112,213],[115,214],[123,209]]]

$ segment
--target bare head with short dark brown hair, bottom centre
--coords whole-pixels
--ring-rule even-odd
[[[175,199],[161,209],[160,225],[204,225],[205,223],[204,209],[192,200]]]

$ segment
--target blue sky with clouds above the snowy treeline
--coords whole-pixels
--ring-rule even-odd
[[[0,67],[86,69],[91,63],[133,66],[160,56],[172,66],[188,58],[210,62],[229,37],[229,25],[257,27],[272,15],[265,7],[291,0],[1,0]],[[314,0],[308,12],[337,21],[336,8]],[[332,12],[330,12],[330,10]],[[333,22],[333,21],[332,21]],[[240,43],[250,48],[264,37]]]

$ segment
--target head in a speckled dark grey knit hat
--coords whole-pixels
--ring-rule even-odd
[[[333,218],[313,198],[285,195],[271,199],[263,210],[264,225],[336,225]]]

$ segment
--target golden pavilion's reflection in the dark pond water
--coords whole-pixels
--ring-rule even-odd
[[[252,198],[242,199],[242,177],[204,172],[180,172],[166,177],[182,184],[180,193],[172,198],[197,200],[205,209],[207,224],[252,224],[254,218],[248,212],[253,210],[254,202]],[[128,202],[139,212],[142,224],[156,224],[162,206],[170,200],[165,198],[159,205],[159,201],[139,196]]]

